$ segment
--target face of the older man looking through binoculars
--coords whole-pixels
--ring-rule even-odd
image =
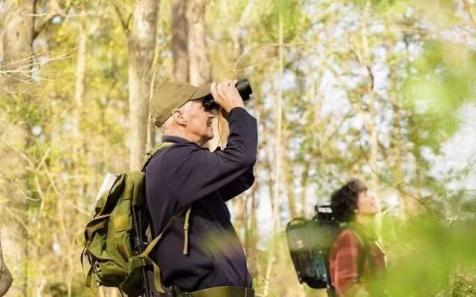
[[[184,113],[186,129],[191,138],[203,145],[213,138],[212,122],[216,111],[205,111],[201,100],[192,101],[190,109]]]

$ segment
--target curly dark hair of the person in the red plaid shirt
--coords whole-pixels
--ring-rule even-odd
[[[355,217],[359,193],[367,191],[367,186],[359,179],[353,178],[331,195],[331,208],[334,218],[342,223],[350,222]]]

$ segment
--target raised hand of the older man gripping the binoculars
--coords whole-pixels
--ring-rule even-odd
[[[210,92],[212,93],[213,99],[218,105],[223,107],[228,114],[235,107],[244,107],[243,99],[235,87],[237,82],[237,80],[227,80],[218,84],[213,82],[210,85]]]

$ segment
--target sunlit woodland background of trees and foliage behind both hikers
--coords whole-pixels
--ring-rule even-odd
[[[248,78],[256,181],[228,207],[257,296],[325,296],[284,229],[351,177],[390,296],[476,296],[475,69],[474,0],[2,0],[0,288],[120,296],[85,286],[81,235],[104,175],[160,142],[156,86]]]

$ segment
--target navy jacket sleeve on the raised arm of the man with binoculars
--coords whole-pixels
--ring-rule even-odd
[[[166,184],[180,185],[170,189],[179,206],[189,205],[222,188],[229,199],[250,183],[249,171],[256,162],[257,153],[256,119],[237,107],[230,112],[229,126],[227,146],[221,151],[177,145],[164,153],[162,168],[168,171],[166,179],[171,179]],[[244,179],[245,183],[239,183],[238,189],[231,189],[234,187],[231,183],[237,179]]]

